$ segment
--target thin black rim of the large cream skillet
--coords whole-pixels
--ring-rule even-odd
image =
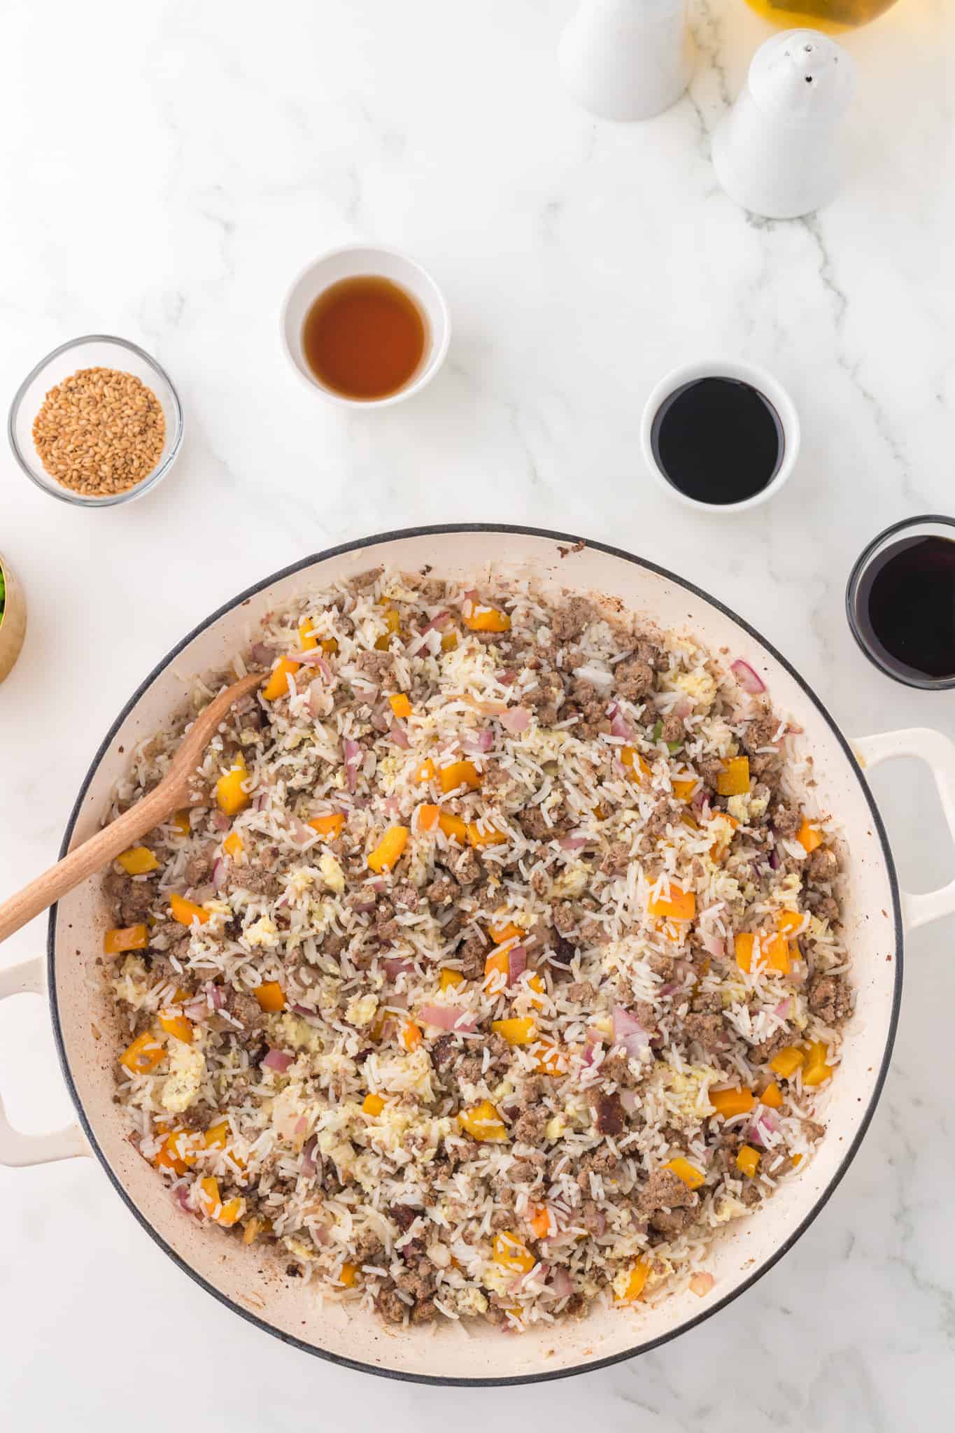
[[[96,770],[97,770],[97,767],[99,767],[103,755],[106,754],[106,751],[112,745],[112,741],[113,741],[116,732],[119,731],[119,727],[123,724],[123,721],[126,719],[126,716],[129,715],[129,712],[133,709],[133,706],[136,705],[136,702],[139,701],[139,698],[146,691],[146,688],[150,686],[150,684],[156,679],[156,676],[159,676],[159,674],[179,655],[179,652],[183,651],[185,646],[189,645],[189,642],[192,642],[193,638],[196,638],[200,632],[205,632],[206,628],[212,626],[215,622],[219,620],[219,618],[225,616],[226,612],[231,612],[233,608],[239,606],[248,598],[256,596],[259,592],[263,590],[263,588],[269,588],[272,583],[279,582],[279,580],[282,580],[282,577],[288,577],[292,573],[304,572],[305,569],[312,567],[316,563],[324,562],[328,557],[338,557],[341,553],[345,553],[345,552],[358,552],[362,547],[374,547],[378,543],[395,542],[395,540],[402,539],[402,537],[431,537],[431,536],[440,537],[440,536],[444,536],[444,535],[448,535],[448,533],[487,533],[487,535],[493,535],[493,533],[514,533],[514,535],[525,536],[525,537],[544,537],[544,539],[550,539],[556,545],[566,545],[568,547],[573,547],[574,543],[577,543],[577,542],[584,542],[584,546],[591,547],[594,552],[603,552],[603,553],[607,553],[611,557],[620,557],[624,562],[634,563],[637,567],[646,567],[649,572],[654,572],[654,573],[657,573],[657,576],[666,577],[669,582],[673,582],[679,588],[683,588],[686,592],[690,592],[694,598],[699,598],[702,602],[706,602],[710,606],[716,608],[724,616],[727,616],[733,622],[739,623],[739,626],[745,632],[747,632],[756,642],[759,642],[770,653],[770,656],[773,656],[780,663],[780,666],[783,666],[786,669],[786,672],[789,672],[789,675],[793,678],[793,681],[806,694],[806,696],[809,698],[809,701],[816,706],[816,709],[819,711],[819,714],[825,719],[825,722],[829,727],[832,735],[835,737],[836,742],[839,744],[843,755],[846,757],[846,759],[848,759],[852,771],[855,772],[856,780],[859,781],[859,785],[862,787],[862,792],[863,792],[866,804],[869,807],[869,814],[872,817],[872,823],[875,825],[875,830],[876,830],[878,837],[879,837],[879,844],[882,847],[882,857],[883,857],[885,864],[886,864],[886,871],[888,871],[888,877],[889,877],[889,888],[891,888],[891,893],[892,893],[892,916],[893,916],[893,926],[895,926],[895,983],[893,983],[893,993],[892,993],[892,1012],[891,1012],[891,1016],[889,1016],[889,1030],[888,1030],[888,1036],[886,1036],[886,1042],[885,1042],[885,1053],[882,1055],[882,1060],[879,1063],[879,1069],[875,1073],[875,1079],[873,1079],[873,1083],[872,1083],[872,1091],[871,1091],[871,1095],[869,1095],[869,1101],[868,1101],[866,1109],[865,1109],[865,1112],[863,1112],[863,1115],[862,1115],[862,1118],[859,1121],[859,1128],[856,1131],[856,1135],[855,1135],[852,1144],[849,1145],[849,1148],[846,1149],[846,1152],[845,1152],[845,1155],[843,1155],[843,1158],[842,1158],[842,1161],[839,1164],[839,1168],[836,1169],[835,1175],[832,1176],[832,1179],[829,1181],[829,1184],[826,1185],[826,1188],[823,1189],[823,1192],[819,1195],[819,1198],[813,1204],[813,1207],[809,1211],[809,1214],[798,1225],[798,1228],[793,1230],[793,1232],[789,1235],[789,1238],[785,1240],[783,1244],[780,1244],[779,1248],[759,1268],[756,1268],[753,1274],[749,1275],[749,1278],[743,1280],[743,1283],[737,1288],[735,1288],[730,1294],[726,1294],[724,1298],[720,1298],[712,1307],[702,1310],[699,1314],[693,1315],[692,1318],[687,1318],[677,1328],[673,1328],[673,1330],[670,1330],[666,1334],[660,1334],[660,1337],[657,1337],[657,1338],[651,1338],[651,1340],[634,1344],[631,1348],[626,1348],[621,1353],[610,1354],[607,1358],[587,1360],[584,1363],[574,1364],[570,1369],[553,1369],[553,1370],[541,1369],[537,1373],[515,1374],[513,1377],[500,1377],[500,1379],[494,1379],[494,1377],[491,1377],[491,1379],[457,1379],[457,1377],[440,1376],[440,1374],[405,1373],[401,1369],[381,1369],[381,1367],[378,1367],[378,1366],[375,1366],[372,1363],[365,1363],[361,1358],[348,1358],[348,1357],[344,1357],[342,1354],[329,1353],[325,1348],[318,1348],[314,1344],[305,1343],[302,1338],[296,1338],[294,1334],[288,1334],[283,1330],[276,1328],[273,1324],[268,1323],[268,1320],[261,1318],[256,1314],[249,1313],[248,1308],[242,1308],[239,1304],[233,1303],[220,1290],[215,1288],[215,1285],[209,1284],[190,1264],[188,1264],[183,1258],[180,1258],[180,1255],[176,1254],[176,1251],[166,1244],[166,1241],[163,1240],[162,1234],[159,1234],[159,1231],[149,1222],[149,1219],[146,1218],[146,1215],[136,1205],[135,1199],[132,1199],[132,1197],[127,1194],[127,1191],[123,1187],[123,1184],[120,1182],[120,1179],[113,1174],[113,1171],[112,1171],[112,1168],[109,1165],[109,1161],[106,1159],[106,1155],[103,1154],[103,1151],[100,1149],[100,1146],[99,1146],[99,1144],[96,1141],[96,1136],[94,1136],[94,1134],[93,1134],[93,1131],[90,1128],[90,1122],[86,1118],[86,1111],[83,1109],[83,1103],[80,1101],[79,1092],[76,1089],[76,1083],[73,1080],[73,1073],[70,1070],[70,1065],[69,1065],[69,1060],[66,1058],[66,1046],[64,1046],[64,1042],[63,1042],[63,1030],[62,1030],[62,1026],[60,1026],[60,1012],[59,1012],[57,995],[56,995],[56,952],[54,952],[56,917],[57,917],[57,907],[56,906],[50,907],[50,920],[49,920],[49,934],[47,934],[47,992],[49,992],[49,1000],[50,1000],[50,1015],[52,1015],[52,1020],[53,1020],[53,1037],[54,1037],[54,1042],[56,1042],[56,1050],[57,1050],[57,1056],[59,1056],[59,1060],[60,1060],[60,1069],[63,1070],[63,1078],[64,1078],[67,1089],[70,1092],[70,1098],[72,1098],[72,1101],[73,1101],[73,1103],[76,1106],[76,1112],[77,1112],[80,1125],[83,1128],[83,1134],[86,1135],[86,1138],[87,1138],[87,1141],[90,1144],[90,1148],[93,1149],[96,1158],[99,1159],[99,1162],[102,1164],[103,1169],[106,1171],[107,1179],[110,1181],[110,1184],[113,1185],[113,1188],[119,1194],[119,1197],[123,1201],[123,1204],[132,1212],[132,1215],[146,1230],[146,1232],[149,1234],[149,1237],[159,1245],[159,1248],[165,1254],[169,1255],[169,1258],[173,1261],[173,1264],[178,1264],[178,1267],[183,1271],[183,1274],[188,1274],[189,1278],[193,1280],[193,1283],[196,1283],[208,1294],[212,1294],[213,1298],[216,1298],[220,1304],[223,1304],[226,1308],[229,1308],[233,1314],[238,1314],[241,1318],[245,1318],[246,1323],[253,1324],[256,1328],[261,1328],[263,1333],[272,1334],[272,1337],[279,1338],[285,1344],[291,1344],[294,1348],[301,1348],[302,1353],[312,1354],[312,1356],[315,1356],[318,1358],[325,1358],[328,1363],[338,1364],[339,1367],[344,1367],[344,1369],[355,1369],[358,1373],[374,1373],[374,1374],[378,1374],[379,1377],[384,1377],[384,1379],[397,1379],[397,1380],[404,1381],[404,1383],[424,1383],[424,1384],[434,1384],[434,1386],[438,1386],[438,1387],[510,1387],[510,1386],[523,1384],[523,1383],[550,1383],[551,1380],[556,1380],[556,1379],[571,1379],[571,1377],[574,1377],[578,1373],[594,1373],[598,1369],[609,1369],[609,1367],[611,1367],[616,1363],[623,1363],[624,1360],[633,1358],[637,1354],[650,1353],[651,1348],[659,1348],[663,1344],[670,1343],[673,1338],[679,1337],[680,1334],[689,1333],[690,1328],[699,1327],[707,1318],[712,1318],[713,1314],[717,1314],[722,1308],[726,1308],[727,1304],[732,1304],[733,1300],[739,1298],[739,1295],[743,1294],[743,1293],[746,1293],[747,1288],[752,1288],[752,1285],[756,1284],[757,1280],[760,1280],[763,1277],[763,1274],[769,1273],[769,1270],[773,1268],[773,1265],[779,1262],[779,1260],[783,1257],[783,1254],[787,1254],[789,1250],[793,1247],[793,1244],[806,1232],[806,1230],[813,1222],[813,1219],[818,1217],[818,1214],[829,1202],[829,1199],[832,1198],[836,1187],[840,1184],[840,1181],[845,1176],[849,1165],[855,1159],[855,1155],[856,1155],[856,1152],[859,1149],[859,1145],[862,1144],[862,1139],[863,1139],[863,1136],[865,1136],[865,1134],[866,1134],[866,1131],[869,1128],[869,1123],[872,1121],[872,1116],[875,1113],[875,1108],[876,1108],[876,1105],[879,1102],[879,1095],[882,1093],[882,1086],[885,1083],[885,1076],[886,1076],[886,1072],[888,1072],[888,1068],[889,1068],[889,1059],[892,1056],[892,1046],[895,1043],[895,1032],[896,1032],[898,1019],[899,1019],[899,1002],[901,1002],[901,997],[902,997],[902,910],[901,910],[901,903],[899,903],[899,886],[898,886],[898,878],[896,878],[896,874],[895,874],[895,864],[892,861],[892,853],[889,850],[889,843],[888,843],[888,837],[885,834],[885,827],[882,824],[882,817],[879,815],[878,807],[875,804],[872,792],[869,791],[868,782],[866,782],[866,780],[865,780],[865,777],[862,774],[859,762],[856,761],[855,755],[852,754],[852,748],[849,747],[849,742],[846,741],[846,738],[839,731],[839,728],[838,728],[836,722],[833,721],[833,718],[830,716],[828,708],[819,701],[819,698],[816,696],[816,694],[803,681],[803,678],[799,675],[799,672],[796,672],[796,669],[786,661],[785,656],[782,656],[776,651],[776,648],[770,642],[767,642],[763,636],[760,636],[760,633],[753,626],[750,626],[749,622],[745,622],[740,616],[737,616],[723,602],[719,602],[716,598],[712,598],[709,593],[703,592],[700,588],[694,586],[692,582],[687,582],[684,577],[679,577],[679,576],[676,576],[676,573],[669,572],[666,567],[660,567],[660,566],[657,566],[657,563],[649,562],[646,557],[636,557],[633,553],[624,552],[621,547],[611,547],[607,543],[586,542],[586,540],[583,540],[580,537],[576,537],[576,536],[571,536],[568,533],[551,532],[551,530],[544,529],[544,527],[524,527],[524,526],[513,524],[513,523],[438,523],[438,524],[428,524],[428,526],[422,526],[422,527],[405,527],[405,529],[398,529],[395,532],[377,533],[372,537],[361,537],[361,539],[358,539],[355,542],[341,543],[336,547],[326,547],[324,552],[314,553],[309,557],[302,557],[299,562],[294,562],[288,567],[282,567],[279,572],[273,572],[273,573],[271,573],[271,576],[263,577],[261,582],[256,582],[253,586],[246,588],[238,596],[232,598],[231,602],[225,602],[210,616],[208,616],[203,622],[200,622],[190,632],[188,632],[186,636],[183,636],[182,641],[178,642],[176,646],[173,646],[172,651],[168,652],[166,656],[163,656],[163,659],[156,663],[156,666],[152,669],[152,672],[136,688],[136,691],[133,692],[133,695],[129,698],[129,701],[126,702],[126,705],[120,711],[120,714],[116,718],[116,721],[112,724],[112,727],[106,732],[106,737],[100,742],[100,745],[99,745],[99,748],[96,751],[96,755],[93,757],[93,761],[90,764],[90,768],[86,772],[86,777],[83,778],[83,784],[82,784],[82,787],[79,790],[79,794],[77,794],[77,798],[76,798],[76,804],[73,807],[73,811],[70,813],[70,818],[69,818],[67,825],[66,825],[66,833],[63,835],[63,844],[60,847],[60,857],[66,856],[66,853],[69,850],[70,838],[73,835],[73,828],[74,828],[77,817],[80,814],[80,808],[83,805],[83,800],[86,797],[89,785],[90,785],[90,782],[93,780],[93,775],[96,774]]]

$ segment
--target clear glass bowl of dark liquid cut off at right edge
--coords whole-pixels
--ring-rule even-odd
[[[955,686],[955,519],[906,517],[873,537],[849,573],[852,635],[905,686]]]

